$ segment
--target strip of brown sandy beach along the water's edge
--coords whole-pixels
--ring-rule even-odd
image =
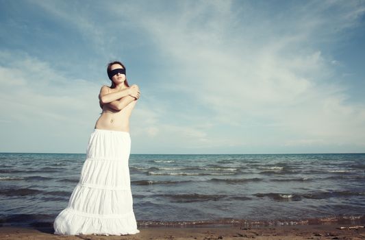
[[[341,229],[342,227],[342,229]],[[203,228],[139,228],[140,233],[125,236],[53,235],[53,228],[1,227],[0,239],[365,239],[364,226],[309,225],[242,228],[233,226]]]

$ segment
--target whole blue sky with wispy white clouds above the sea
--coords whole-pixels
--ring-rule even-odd
[[[131,154],[365,152],[364,0],[0,0],[0,152],[85,154],[113,60]]]

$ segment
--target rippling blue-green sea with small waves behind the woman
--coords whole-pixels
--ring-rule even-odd
[[[53,226],[86,154],[0,153],[0,226]],[[365,154],[131,154],[138,226],[365,223]]]

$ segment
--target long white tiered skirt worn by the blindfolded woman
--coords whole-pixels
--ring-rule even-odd
[[[129,132],[95,129],[79,183],[55,218],[55,235],[131,235],[137,229],[129,177]]]

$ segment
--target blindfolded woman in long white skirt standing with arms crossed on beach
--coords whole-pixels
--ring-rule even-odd
[[[129,117],[140,91],[129,86],[125,66],[108,64],[112,85],[102,86],[103,112],[88,141],[79,183],[55,218],[56,235],[127,235],[140,232],[133,211],[128,160]]]

